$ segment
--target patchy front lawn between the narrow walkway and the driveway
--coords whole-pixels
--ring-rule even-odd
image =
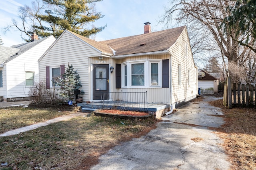
[[[155,119],[113,119],[92,115],[0,138],[0,170],[89,169],[121,141],[140,137]]]

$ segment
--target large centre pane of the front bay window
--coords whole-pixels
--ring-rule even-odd
[[[144,63],[132,64],[132,86],[144,86]]]

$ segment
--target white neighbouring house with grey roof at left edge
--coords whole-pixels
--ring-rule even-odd
[[[53,36],[38,39],[34,33],[30,42],[0,46],[0,96],[3,101],[29,97],[30,88],[39,81],[38,59],[54,41]]]

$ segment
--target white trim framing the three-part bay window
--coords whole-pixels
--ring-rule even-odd
[[[144,86],[132,86],[132,64],[144,63]],[[151,85],[151,63],[158,63],[158,85]],[[158,60],[138,60],[127,61],[122,63],[122,77],[124,77],[124,66],[127,68],[127,86],[124,86],[124,78],[122,78],[122,88],[162,88],[162,59]]]

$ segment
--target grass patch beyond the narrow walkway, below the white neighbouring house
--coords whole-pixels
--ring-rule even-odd
[[[30,107],[5,107],[0,108],[0,133],[44,122],[62,115],[74,112],[56,109],[35,109]]]

